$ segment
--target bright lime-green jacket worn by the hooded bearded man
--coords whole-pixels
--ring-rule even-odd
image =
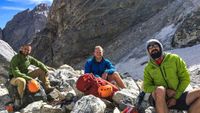
[[[185,62],[176,54],[165,53],[163,62],[158,66],[150,60],[144,69],[144,92],[152,93],[157,86],[176,91],[178,99],[190,83]]]

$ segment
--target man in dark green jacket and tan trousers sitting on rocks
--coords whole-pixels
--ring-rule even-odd
[[[26,83],[36,77],[38,77],[38,79],[43,82],[45,86],[45,91],[47,93],[51,92],[54,89],[50,86],[50,82],[48,80],[47,67],[40,61],[30,56],[30,53],[31,46],[23,45],[21,46],[19,53],[16,54],[10,62],[10,83],[14,86],[17,86],[17,90],[21,99],[24,95]],[[30,65],[39,67],[39,69],[29,72],[28,67]]]

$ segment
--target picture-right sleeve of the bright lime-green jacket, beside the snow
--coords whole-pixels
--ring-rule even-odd
[[[181,94],[185,91],[185,89],[190,83],[190,75],[187,70],[185,62],[179,56],[177,56],[177,59],[178,59],[177,60],[177,69],[178,69],[177,74],[179,78],[179,85],[176,90],[176,95],[175,95],[176,99],[178,99],[181,96]]]

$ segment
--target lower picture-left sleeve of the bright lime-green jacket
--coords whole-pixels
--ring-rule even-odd
[[[144,92],[145,93],[152,93],[153,91],[155,91],[156,86],[153,83],[153,79],[151,78],[151,76],[148,74],[147,70],[144,70],[144,81],[143,81],[143,85],[144,85]]]

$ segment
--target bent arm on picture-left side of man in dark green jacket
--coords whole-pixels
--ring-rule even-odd
[[[14,57],[11,62],[10,62],[10,68],[12,70],[12,74],[14,77],[22,77],[25,80],[31,80],[32,78],[27,76],[24,73],[21,73],[19,68],[18,68],[18,64],[17,64],[17,59]]]

